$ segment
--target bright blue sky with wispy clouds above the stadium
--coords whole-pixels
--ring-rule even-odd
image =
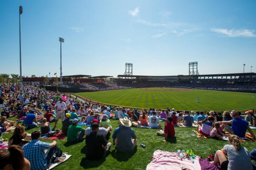
[[[256,1],[1,0],[0,73],[24,76],[256,72]]]

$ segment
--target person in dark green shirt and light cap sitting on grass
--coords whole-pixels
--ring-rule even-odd
[[[67,130],[67,142],[79,142],[83,140],[85,129],[77,125],[78,120],[73,119],[72,125]]]

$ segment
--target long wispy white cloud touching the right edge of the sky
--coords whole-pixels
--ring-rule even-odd
[[[256,37],[255,30],[249,29],[223,29],[212,28],[211,31],[216,32],[224,37]]]

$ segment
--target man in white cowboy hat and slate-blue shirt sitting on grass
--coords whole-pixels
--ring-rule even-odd
[[[121,126],[113,132],[112,138],[116,141],[116,150],[119,152],[129,152],[137,145],[137,136],[131,127],[131,121],[124,117],[119,119]]]

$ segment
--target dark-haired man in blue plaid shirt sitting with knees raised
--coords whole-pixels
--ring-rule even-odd
[[[27,139],[25,138],[26,141],[30,141],[29,136],[27,136]],[[55,159],[53,158],[53,154],[55,154],[56,157],[61,157],[62,155],[62,151],[56,145],[56,141],[52,143],[41,142],[39,141],[40,138],[41,132],[35,130],[31,133],[31,142],[22,147],[25,158],[30,161],[30,170],[46,170],[50,163],[54,161],[53,159]],[[47,153],[45,153],[44,150],[48,150]]]

